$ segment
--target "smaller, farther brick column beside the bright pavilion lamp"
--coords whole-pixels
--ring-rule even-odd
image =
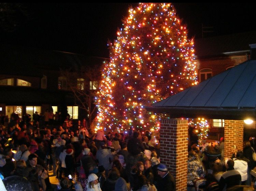
[[[236,145],[243,150],[244,122],[239,120],[225,120],[224,127],[224,156],[231,157],[231,146]]]

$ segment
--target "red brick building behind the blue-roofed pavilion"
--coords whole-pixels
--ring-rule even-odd
[[[255,42],[256,31],[196,39],[198,81],[202,82],[247,61],[250,58],[249,44]],[[208,120],[209,140],[219,140],[224,136],[224,122],[223,119]],[[246,125],[244,133],[246,139],[253,133],[254,127],[255,124]]]

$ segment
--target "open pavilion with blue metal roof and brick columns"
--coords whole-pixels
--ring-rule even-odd
[[[161,122],[160,158],[175,176],[177,191],[187,189],[188,121],[184,118],[223,119],[224,156],[231,156],[232,145],[243,148],[243,120],[256,120],[256,60],[252,54],[251,58],[152,107],[146,107],[148,111],[170,115],[169,120]]]

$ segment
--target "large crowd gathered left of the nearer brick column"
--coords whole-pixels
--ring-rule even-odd
[[[158,133],[94,132],[85,120],[74,123],[67,117],[56,126],[29,118],[1,124],[0,173],[6,190],[14,179],[28,187],[24,190],[53,190],[48,170],[60,191],[175,190],[174,177],[159,161]]]

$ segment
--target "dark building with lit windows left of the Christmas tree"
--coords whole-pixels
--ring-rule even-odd
[[[0,47],[0,114],[17,112],[19,116],[37,111],[43,113],[52,108],[67,113],[73,119],[86,118],[87,113],[75,104],[74,96],[68,89],[68,80],[61,72],[71,73],[88,65],[99,65],[102,59],[88,58],[84,55],[2,45]],[[96,64],[94,64],[96,63]],[[99,63],[99,64],[97,64]],[[99,67],[98,67],[99,68]],[[73,79],[77,87],[96,89],[94,81],[86,76]]]

